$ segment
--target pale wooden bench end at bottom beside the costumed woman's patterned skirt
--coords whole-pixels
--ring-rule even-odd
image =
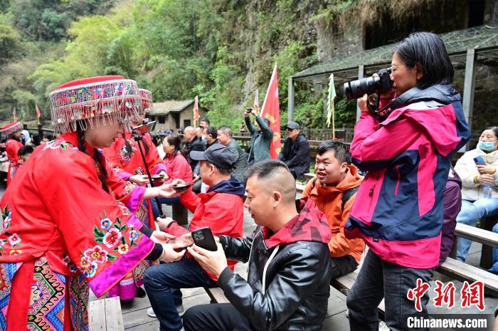
[[[120,298],[90,301],[88,326],[90,331],[124,331]]]

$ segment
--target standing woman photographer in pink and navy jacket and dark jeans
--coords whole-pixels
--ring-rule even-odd
[[[439,36],[411,34],[396,45],[391,66],[393,86],[380,109],[369,110],[366,95],[359,100],[351,142],[353,163],[368,173],[344,233],[370,248],[347,298],[352,331],[378,330],[382,298],[390,330],[409,330],[407,315],[427,314],[428,293],[415,307],[410,289],[438,266],[450,157],[470,137]]]

